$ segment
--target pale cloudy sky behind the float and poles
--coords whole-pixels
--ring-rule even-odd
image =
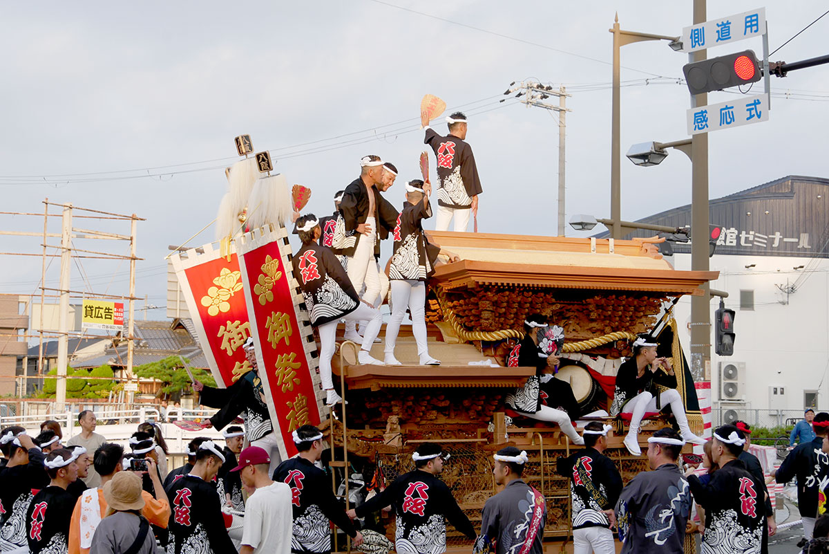
[[[618,12],[623,29],[680,35],[691,24],[691,6],[618,0],[5,3],[0,210],[42,212],[48,197],[143,217],[136,294],[163,307],[168,245],[204,227],[188,245],[215,239],[209,224],[226,191],[223,168],[238,159],[236,135],[250,134],[255,150],[268,149],[288,182],[311,188],[308,211],[332,211],[333,193],[358,175],[359,158],[368,153],[400,168],[386,193],[400,206],[402,181],[419,176],[419,101],[428,93],[446,101],[447,114],[468,114],[467,139],[483,187],[479,231],[555,235],[557,120],[503,92],[521,80],[567,87],[566,219],[609,217],[608,29]],[[708,18],[761,6],[708,2]],[[765,7],[772,50],[826,11],[823,2]],[[821,56],[827,32],[829,16],[771,59]],[[710,56],[744,48],[762,52],[755,39],[720,46]],[[633,143],[685,139],[689,100],[679,81],[687,55],[647,41],[623,47],[621,56],[622,153]],[[827,177],[829,69],[773,77],[772,90],[768,122],[710,134],[710,197],[788,174]],[[713,93],[709,103],[730,98]],[[674,151],[653,168],[622,160],[624,220],[690,202],[691,163],[683,154]],[[432,164],[434,172],[434,157]],[[60,218],[49,225],[60,232]],[[75,226],[129,231],[123,221]],[[42,232],[43,217],[0,214],[0,231]],[[585,236],[569,226],[567,234]],[[0,252],[40,254],[41,243],[40,237],[0,235]],[[75,246],[128,253],[116,241]],[[391,245],[383,250],[390,255]],[[59,262],[49,260],[46,286],[56,287]],[[41,258],[0,255],[0,263],[0,293],[39,293]],[[73,290],[126,294],[128,265],[77,260],[71,279]],[[146,313],[164,318],[163,309]]]

